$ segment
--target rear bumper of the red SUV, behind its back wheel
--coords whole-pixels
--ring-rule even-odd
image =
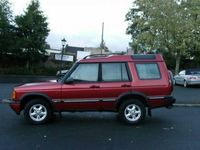
[[[176,99],[172,96],[148,98],[148,106],[151,109],[158,107],[171,107],[175,102]]]

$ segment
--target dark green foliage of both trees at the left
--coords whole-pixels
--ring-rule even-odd
[[[26,68],[37,64],[50,47],[45,42],[49,29],[47,18],[40,10],[38,0],[32,0],[24,14],[12,16],[8,0],[0,1],[0,62],[6,67],[8,61],[23,60]],[[12,66],[16,64],[13,63]],[[7,66],[9,67],[9,66]]]

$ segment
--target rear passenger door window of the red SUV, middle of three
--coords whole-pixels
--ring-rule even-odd
[[[102,81],[129,81],[125,63],[102,63]]]

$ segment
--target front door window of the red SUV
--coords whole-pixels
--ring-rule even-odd
[[[95,82],[98,80],[99,65],[97,63],[79,64],[70,75],[75,81]]]

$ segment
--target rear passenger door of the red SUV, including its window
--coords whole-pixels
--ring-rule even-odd
[[[101,63],[102,109],[114,108],[116,99],[123,93],[131,91],[130,77],[126,63]]]

